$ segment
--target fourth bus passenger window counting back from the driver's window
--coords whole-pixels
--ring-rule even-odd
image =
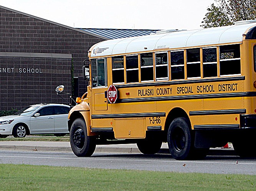
[[[167,52],[155,53],[155,77],[157,81],[169,79]]]

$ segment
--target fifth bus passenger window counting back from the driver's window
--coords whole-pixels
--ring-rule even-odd
[[[171,52],[172,79],[185,79],[184,51]]]

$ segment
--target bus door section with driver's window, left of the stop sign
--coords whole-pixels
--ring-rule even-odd
[[[107,110],[107,66],[106,59],[99,58],[91,61],[92,74],[92,110]]]

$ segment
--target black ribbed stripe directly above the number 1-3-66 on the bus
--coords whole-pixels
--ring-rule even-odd
[[[92,119],[103,119],[103,118],[134,118],[134,117],[165,117],[165,112],[157,113],[121,113],[121,114],[103,114],[103,115],[92,115]]]

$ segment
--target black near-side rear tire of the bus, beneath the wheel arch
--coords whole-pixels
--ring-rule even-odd
[[[176,160],[191,159],[193,156],[193,141],[187,118],[175,118],[169,126],[167,141],[170,153]]]

